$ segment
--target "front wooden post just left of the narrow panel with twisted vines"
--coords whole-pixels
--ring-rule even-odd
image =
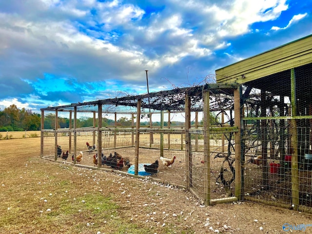
[[[204,204],[210,205],[210,112],[209,90],[203,92],[204,114]]]

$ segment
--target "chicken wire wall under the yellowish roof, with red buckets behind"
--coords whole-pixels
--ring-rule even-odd
[[[302,210],[311,210],[310,69],[311,64],[244,84],[244,199],[289,208],[298,200]]]

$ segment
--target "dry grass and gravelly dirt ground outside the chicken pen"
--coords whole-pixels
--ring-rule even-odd
[[[203,207],[148,177],[51,162],[39,149],[39,137],[0,140],[0,234],[275,234],[312,220],[248,202]]]

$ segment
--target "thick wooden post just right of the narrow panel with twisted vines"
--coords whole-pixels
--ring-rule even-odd
[[[234,125],[238,128],[238,132],[234,133],[235,140],[235,196],[238,200],[242,200],[243,198],[243,171],[242,171],[242,159],[241,159],[241,139],[242,139],[242,131],[241,131],[241,99],[242,96],[242,88],[239,86],[234,90]],[[223,114],[223,113],[222,113]],[[222,121],[223,123],[223,121]],[[224,144],[223,144],[224,146]],[[223,151],[224,152],[224,151]]]

